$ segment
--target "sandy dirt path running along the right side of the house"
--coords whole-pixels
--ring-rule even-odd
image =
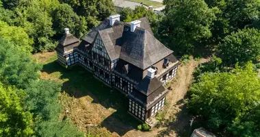
[[[159,128],[153,129],[151,132],[140,132],[137,130],[132,130],[127,132],[125,136],[177,136],[177,130],[183,129],[190,121],[190,118],[186,114],[179,114],[183,105],[185,104],[184,97],[187,90],[192,83],[192,73],[198,64],[207,62],[209,58],[203,58],[200,61],[190,60],[188,64],[179,66],[177,79],[173,80],[170,85],[172,85],[172,90],[168,93],[166,99],[168,101],[168,110],[165,116],[165,120],[177,119],[176,121],[163,125]],[[179,118],[177,114],[181,115]],[[179,119],[179,120],[178,120]]]

